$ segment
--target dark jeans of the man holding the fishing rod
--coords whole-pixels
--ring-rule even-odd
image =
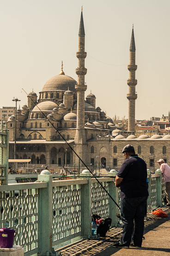
[[[134,228],[134,245],[142,245],[146,197],[121,198],[121,220],[123,233],[120,243],[129,246]]]

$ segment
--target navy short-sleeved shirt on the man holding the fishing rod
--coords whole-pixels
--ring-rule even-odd
[[[121,198],[136,198],[148,196],[146,162],[133,155],[128,157],[117,173],[121,181]]]

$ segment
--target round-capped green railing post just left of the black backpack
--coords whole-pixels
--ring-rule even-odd
[[[80,177],[89,176],[85,178],[88,180],[87,184],[81,185],[81,213],[82,226],[81,235],[84,238],[91,237],[91,173],[88,170],[83,170]]]

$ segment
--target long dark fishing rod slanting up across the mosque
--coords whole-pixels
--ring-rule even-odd
[[[26,93],[26,95],[30,98],[30,100],[36,105],[36,107],[40,110],[40,112],[42,113],[42,115],[44,115],[44,117],[50,122],[50,124],[52,125],[53,128],[55,128],[55,132],[58,132],[58,134],[61,136],[61,138],[67,143],[67,145],[70,147],[70,149],[73,151],[74,154],[77,155],[77,157],[79,158],[79,160],[82,162],[82,164],[85,166],[85,168],[87,168],[87,170],[92,174],[92,176],[97,180],[98,184],[100,184],[100,186],[103,188],[103,190],[108,194],[108,196],[113,200],[113,202],[115,203],[115,205],[119,208],[120,206],[115,202],[114,198],[112,198],[112,196],[109,194],[109,192],[105,189],[105,187],[102,185],[102,183],[96,178],[96,176],[91,172],[91,170],[89,169],[89,167],[86,166],[85,162],[79,157],[79,155],[75,152],[75,150],[73,149],[73,147],[70,146],[70,144],[66,141],[66,139],[62,136],[62,134],[59,132],[59,130],[54,126],[54,124],[49,120],[49,118],[42,112],[42,110],[38,107],[38,105],[36,104],[36,102],[33,101],[33,99],[30,97],[30,95],[28,95],[28,93],[22,88],[22,90]]]

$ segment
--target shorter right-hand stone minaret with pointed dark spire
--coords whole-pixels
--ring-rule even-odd
[[[135,86],[137,80],[135,79],[135,71],[137,70],[137,65],[135,65],[135,42],[134,42],[134,25],[132,28],[132,36],[130,42],[130,65],[128,65],[129,79],[127,81],[129,86],[129,93],[127,94],[127,99],[129,101],[128,105],[128,131],[135,132],[135,100],[137,99],[137,94],[135,92]]]

